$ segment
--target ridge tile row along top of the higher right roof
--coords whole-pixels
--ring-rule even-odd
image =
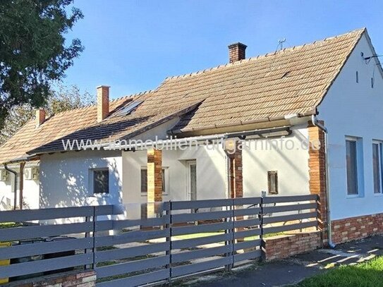
[[[212,67],[212,68],[205,68],[203,70],[200,70],[200,71],[196,71],[196,72],[193,72],[193,73],[185,73],[183,75],[174,75],[174,76],[169,76],[169,77],[166,77],[164,82],[166,82],[167,80],[174,80],[174,79],[180,79],[180,78],[187,78],[187,77],[191,77],[193,75],[200,75],[202,73],[205,73],[205,72],[208,72],[208,71],[214,71],[214,70],[217,70],[217,69],[220,69],[220,68],[226,68],[226,67],[232,67],[232,66],[236,66],[236,65],[239,65],[241,63],[248,63],[250,61],[256,61],[258,59],[264,59],[265,57],[267,56],[274,56],[276,54],[282,54],[284,52],[287,52],[287,51],[292,51],[292,50],[295,50],[295,49],[300,49],[300,48],[303,48],[303,47],[307,47],[309,45],[312,45],[312,44],[320,44],[322,42],[326,42],[326,41],[329,41],[330,39],[336,39],[336,38],[339,38],[339,37],[345,37],[347,35],[351,35],[353,33],[363,33],[367,30],[367,28],[359,28],[359,29],[355,29],[355,30],[351,30],[349,32],[346,32],[346,33],[343,33],[343,34],[340,34],[340,35],[335,35],[335,36],[332,36],[332,37],[326,37],[324,39],[320,39],[320,40],[315,40],[314,42],[309,42],[309,43],[304,43],[304,44],[301,44],[301,45],[298,45],[298,46],[293,46],[293,47],[288,47],[288,48],[284,48],[282,49],[281,51],[272,51],[272,52],[268,52],[266,54],[261,54],[261,55],[257,55],[257,56],[253,56],[253,57],[249,57],[247,59],[243,59],[243,60],[240,60],[240,61],[235,61],[233,63],[225,63],[225,64],[221,64],[219,66],[215,66],[215,67]]]

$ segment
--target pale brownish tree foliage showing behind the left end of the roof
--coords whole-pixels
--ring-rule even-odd
[[[47,116],[58,114],[61,111],[78,109],[83,106],[95,104],[95,96],[89,92],[81,93],[77,86],[66,87],[62,84],[57,85],[55,90],[49,92],[47,103],[44,109]],[[35,109],[30,104],[13,106],[6,116],[4,128],[0,130],[0,145],[8,138],[11,138],[22,126],[35,116]]]

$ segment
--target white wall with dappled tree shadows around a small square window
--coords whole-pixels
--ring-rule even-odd
[[[92,169],[109,169],[109,195],[94,195]],[[121,152],[82,151],[44,154],[40,160],[40,207],[121,202]]]

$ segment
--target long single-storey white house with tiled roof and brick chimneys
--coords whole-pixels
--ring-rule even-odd
[[[255,58],[245,49],[153,91],[109,102],[100,86],[97,106],[39,110],[0,163],[39,161],[39,207],[124,203],[140,216],[146,202],[315,193],[330,243],[383,232],[383,71],[367,30]],[[183,145],[137,144],[169,137]],[[75,140],[87,150],[63,145]]]

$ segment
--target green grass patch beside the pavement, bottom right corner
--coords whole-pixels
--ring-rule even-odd
[[[383,286],[383,257],[355,265],[343,265],[300,282],[298,287]]]

